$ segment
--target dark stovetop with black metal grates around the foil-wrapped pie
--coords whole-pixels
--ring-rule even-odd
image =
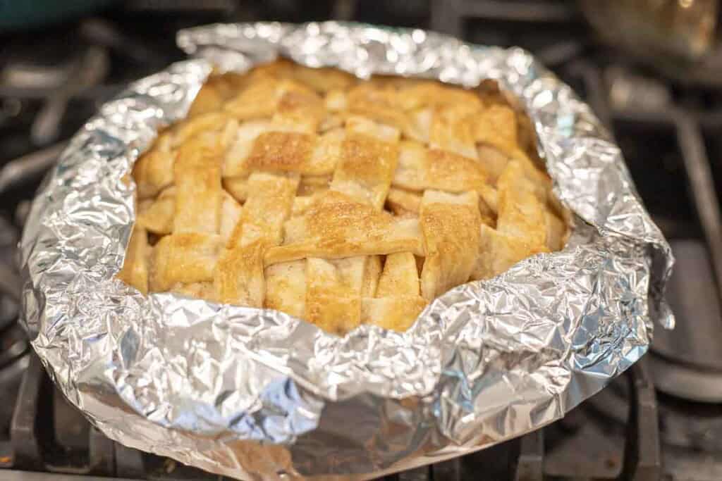
[[[182,58],[178,28],[329,18],[531,50],[614,133],[678,260],[668,298],[679,327],[658,330],[624,376],[547,428],[388,479],[721,480],[722,87],[602,45],[564,0],[129,0],[42,35],[0,37],[0,479],[219,479],[109,441],[66,402],[17,323],[14,245],[67,138],[129,81]]]

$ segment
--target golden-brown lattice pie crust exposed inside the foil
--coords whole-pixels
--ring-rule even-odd
[[[487,83],[290,61],[214,76],[135,164],[118,277],[338,334],[406,330],[449,289],[562,248],[565,214],[524,128]]]

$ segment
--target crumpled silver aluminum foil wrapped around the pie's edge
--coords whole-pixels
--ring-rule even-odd
[[[123,444],[223,475],[365,479],[551,423],[648,348],[673,257],[619,148],[529,53],[422,30],[336,22],[184,30],[198,58],[135,82],[72,139],[21,242],[32,346],[66,397]],[[357,76],[473,86],[495,79],[526,109],[559,198],[562,252],[435,300],[407,332],[345,337],[272,310],[114,279],[134,222],[123,182],[157,130],[183,118],[212,68],[286,56]]]

